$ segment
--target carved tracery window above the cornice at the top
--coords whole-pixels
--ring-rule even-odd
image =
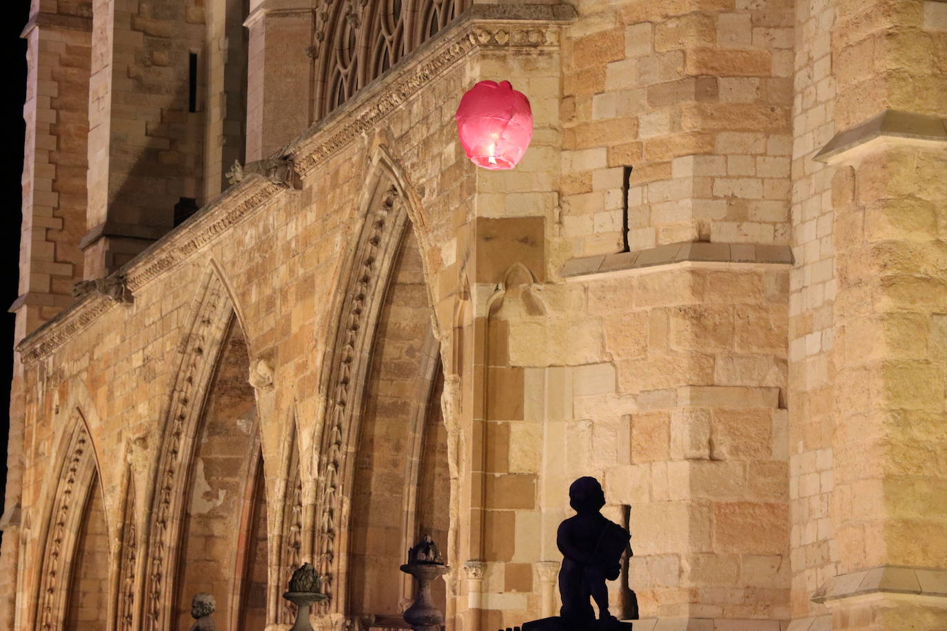
[[[473,0],[319,0],[316,120],[433,37]]]

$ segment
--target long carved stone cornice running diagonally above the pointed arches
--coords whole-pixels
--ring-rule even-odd
[[[560,42],[560,26],[575,17],[575,9],[564,4],[474,5],[414,54],[396,63],[272,157],[290,160],[296,176],[305,177],[476,50],[555,48]],[[134,294],[286,188],[259,174],[248,175],[115,275],[124,276]],[[117,304],[105,296],[86,295],[20,342],[16,349],[21,360],[30,364],[43,359]]]

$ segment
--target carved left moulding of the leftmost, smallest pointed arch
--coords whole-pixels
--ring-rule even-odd
[[[98,500],[104,502],[92,436],[78,408],[72,425],[72,431],[67,434],[68,442],[61,451],[62,464],[56,476],[40,556],[42,570],[34,628],[42,631],[63,628],[83,517],[87,506],[96,500],[97,488]]]

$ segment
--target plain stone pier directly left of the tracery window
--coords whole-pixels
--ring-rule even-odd
[[[313,37],[311,3],[255,0],[250,29],[246,160],[254,162],[310,124]]]

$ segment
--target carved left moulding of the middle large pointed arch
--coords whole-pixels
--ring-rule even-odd
[[[142,628],[170,628],[181,516],[195,428],[234,312],[221,276],[212,267],[199,285],[187,333],[178,349],[178,369],[162,432],[150,499],[148,570],[139,598]]]

